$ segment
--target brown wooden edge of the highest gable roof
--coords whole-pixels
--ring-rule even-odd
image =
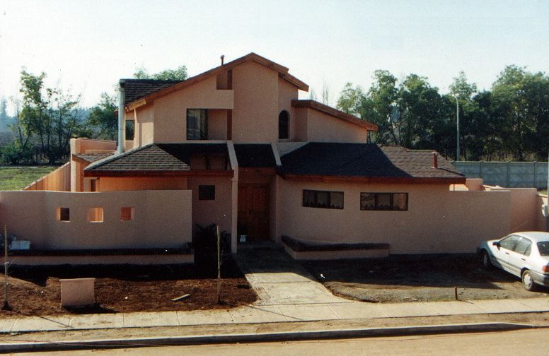
[[[151,93],[141,95],[139,97],[132,98],[132,101],[126,100],[125,104],[129,107],[132,105],[137,105],[139,102],[149,102],[151,100],[155,100],[158,97],[163,97],[165,95],[171,94],[177,90],[181,90],[183,88],[187,88],[190,85],[193,85],[195,83],[198,83],[200,81],[203,81],[204,79],[207,79],[211,76],[216,76],[217,74],[221,73],[222,71],[226,71],[228,69],[232,69],[235,66],[238,66],[239,64],[243,64],[248,61],[255,61],[256,63],[262,64],[263,66],[266,66],[269,69],[272,69],[273,71],[278,72],[279,78],[284,79],[285,81],[291,83],[292,85],[296,86],[298,89],[308,91],[308,85],[304,83],[303,81],[300,81],[298,78],[292,76],[290,73],[288,73],[289,69],[287,69],[285,66],[281,66],[280,64],[274,63],[274,61],[271,61],[270,59],[266,59],[265,57],[261,57],[259,54],[255,54],[253,52],[246,54],[244,57],[240,57],[238,59],[235,59],[233,61],[227,62],[226,64],[223,64],[222,66],[217,66],[213,69],[210,69],[209,71],[205,71],[204,73],[200,73],[197,76],[192,76],[190,78],[187,78],[185,81],[180,81],[178,83],[172,83],[171,85],[168,85],[163,88],[156,89],[154,91],[151,91]],[[122,79],[120,82],[125,83],[126,81],[132,81],[131,79]],[[158,83],[160,84],[160,83]],[[145,90],[144,90],[145,91]],[[139,105],[138,105],[139,106]]]

